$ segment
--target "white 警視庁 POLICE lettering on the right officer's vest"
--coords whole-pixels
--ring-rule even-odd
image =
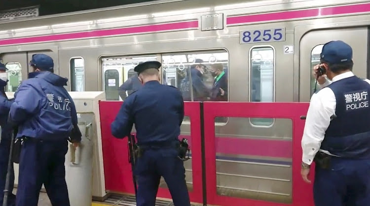
[[[369,107],[368,92],[357,91],[344,95],[346,101],[346,110],[356,110]]]

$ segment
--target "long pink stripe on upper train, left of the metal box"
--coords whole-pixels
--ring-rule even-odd
[[[94,37],[106,37],[114,35],[125,35],[125,34],[143,34],[152,32],[166,32],[176,31],[184,29],[198,29],[198,20],[186,21],[186,22],[175,22],[167,24],[155,24],[146,26],[126,27],[119,29],[107,29],[107,30],[95,30],[87,32],[77,32],[68,34],[50,34],[42,36],[31,36],[21,38],[11,38],[0,40],[0,46],[13,45],[13,44],[25,44],[25,43],[37,43],[46,41],[60,41],[60,40],[72,40],[81,38],[94,38]]]

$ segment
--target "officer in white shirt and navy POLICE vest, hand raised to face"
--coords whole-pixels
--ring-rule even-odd
[[[302,178],[310,182],[315,161],[316,206],[369,206],[370,80],[352,73],[352,48],[343,41],[326,43],[320,61],[315,76],[326,75],[318,78],[324,88],[312,96],[307,112]]]

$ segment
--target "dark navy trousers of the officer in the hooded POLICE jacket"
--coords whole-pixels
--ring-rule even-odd
[[[67,151],[67,140],[23,142],[16,206],[37,206],[42,184],[52,206],[70,206],[64,167]]]

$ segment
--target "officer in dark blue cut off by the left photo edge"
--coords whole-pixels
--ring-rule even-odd
[[[5,65],[0,63],[0,127],[1,127],[1,138],[0,138],[0,205],[4,197],[4,187],[6,174],[8,171],[8,161],[10,155],[10,144],[11,144],[11,126],[7,123],[10,106],[12,101],[9,101],[5,94],[5,86],[8,82]],[[9,179],[9,195],[8,195],[8,206],[15,205],[15,195],[11,192],[14,188],[14,169],[13,164],[10,168],[10,179]]]

